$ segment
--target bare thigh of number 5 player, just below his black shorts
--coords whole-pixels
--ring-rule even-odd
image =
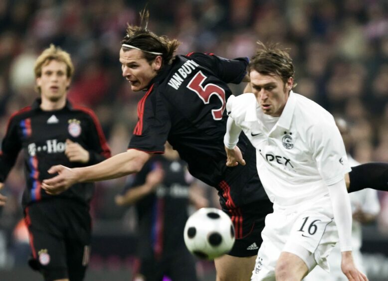
[[[214,260],[217,281],[250,280],[256,256],[233,257],[224,255]]]

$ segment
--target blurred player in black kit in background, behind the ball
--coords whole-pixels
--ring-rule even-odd
[[[139,173],[131,175],[123,195],[116,196],[118,205],[135,204],[138,215],[132,280],[162,281],[164,275],[174,281],[197,280],[195,260],[182,235],[189,218],[189,201],[206,207],[205,198],[193,196],[193,181],[186,163],[166,143],[163,156],[155,156]]]

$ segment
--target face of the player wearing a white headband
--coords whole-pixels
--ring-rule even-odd
[[[150,84],[162,66],[162,57],[157,56],[151,64],[143,57],[143,52],[120,49],[120,62],[123,76],[131,84],[132,91],[141,91]]]

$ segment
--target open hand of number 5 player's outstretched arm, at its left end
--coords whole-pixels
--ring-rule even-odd
[[[58,175],[43,180],[42,188],[50,195],[57,195],[67,190],[71,185],[78,182],[77,173],[74,169],[62,165],[52,166],[48,170],[49,174]]]

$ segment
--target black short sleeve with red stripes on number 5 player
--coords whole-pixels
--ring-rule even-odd
[[[138,122],[128,148],[164,153],[171,119],[161,94],[154,90],[138,104]]]

